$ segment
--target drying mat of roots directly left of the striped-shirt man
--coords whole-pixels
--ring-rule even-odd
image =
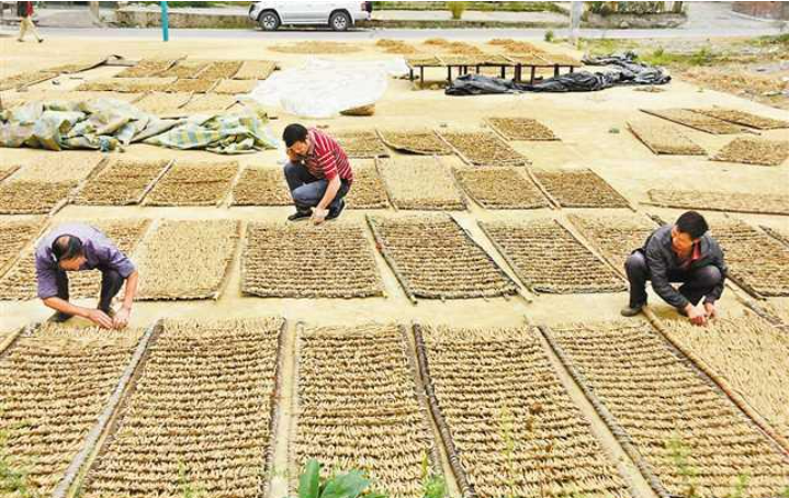
[[[356,169],[354,169],[356,174]],[[353,182],[356,188],[356,181]],[[293,204],[281,168],[247,167],[233,188],[234,206],[290,206]]]

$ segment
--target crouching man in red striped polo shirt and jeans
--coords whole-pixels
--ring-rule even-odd
[[[288,219],[312,217],[318,225],[338,217],[353,182],[353,170],[340,145],[327,134],[296,123],[285,127],[282,139],[290,160],[285,165],[285,180],[296,205],[296,212]]]

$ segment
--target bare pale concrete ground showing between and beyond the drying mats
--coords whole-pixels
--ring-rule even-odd
[[[46,31],[44,31],[47,34]],[[184,39],[180,33],[173,41],[162,44],[153,39],[121,39],[119,37],[100,37],[99,34],[88,36],[55,35],[60,32],[49,32],[47,43],[16,44],[3,41],[0,50],[0,63],[3,73],[13,73],[22,70],[45,68],[74,61],[79,58],[100,56],[106,54],[122,54],[127,58],[165,57],[167,55],[188,55],[194,58],[253,58],[279,60],[284,68],[297,67],[307,56],[284,55],[271,52],[270,37],[260,33],[249,33],[256,36],[256,43],[239,44],[234,37],[236,32],[225,32],[224,38],[214,33],[207,36]],[[125,30],[124,33],[136,33]],[[356,35],[356,34],[354,34]],[[444,33],[442,33],[444,35]],[[300,37],[313,37],[298,34]],[[367,34],[364,35],[367,36]],[[387,35],[393,36],[393,35]],[[399,35],[398,35],[399,36]],[[414,34],[416,36],[416,34]],[[431,33],[421,32],[421,36],[432,36]],[[488,35],[491,36],[491,35]],[[495,36],[499,36],[496,34]],[[451,35],[447,35],[451,37]],[[361,52],[338,58],[372,59],[391,57],[379,53],[372,43],[363,42],[360,34],[358,39]],[[100,42],[100,43],[98,43]],[[534,42],[539,44],[540,42]],[[93,73],[80,75],[109,75],[120,71],[120,68],[100,68]],[[442,75],[436,75],[442,77]],[[81,82],[79,79],[61,78],[63,83],[58,90],[68,90]],[[55,90],[50,83],[42,83],[31,91]],[[13,92],[11,92],[13,95]],[[568,94],[520,94],[520,95],[485,95],[457,98],[447,97],[442,91],[415,91],[408,81],[391,80],[388,90],[377,103],[375,115],[371,117],[337,117],[330,120],[302,120],[297,116],[279,112],[279,120],[271,123],[275,135],[294,121],[307,125],[328,126],[327,132],[343,128],[414,128],[438,127],[447,124],[452,127],[481,127],[483,118],[487,116],[529,116],[534,117],[550,126],[561,137],[561,142],[550,143],[515,143],[514,147],[527,155],[536,168],[556,169],[563,167],[593,168],[611,185],[628,197],[640,212],[660,214],[666,219],[677,216],[677,210],[661,210],[642,204],[646,201],[649,189],[699,189],[723,190],[753,193],[782,193],[787,194],[789,184],[789,165],[779,167],[758,167],[735,163],[709,161],[703,157],[672,157],[655,156],[647,150],[631,134],[627,133],[627,121],[641,117],[642,107],[681,107],[681,106],[712,106],[720,105],[754,112],[765,116],[789,120],[789,112],[767,107],[734,95],[715,91],[700,92],[697,87],[675,80],[664,92],[650,93],[635,91],[633,88],[615,88],[595,93]],[[612,133],[613,129],[619,133]],[[687,136],[703,146],[709,152],[714,152],[731,136],[709,135],[691,129],[683,129]],[[789,131],[776,129],[762,134],[768,138],[789,139]],[[36,158],[52,155],[68,155],[69,152],[50,152],[31,149],[2,149],[0,151],[5,160],[20,160],[21,162],[35,161]],[[203,151],[176,151],[156,148],[153,146],[134,145],[129,147],[124,157],[127,158],[200,158],[206,160],[224,159],[216,155]],[[248,156],[240,156],[239,161],[245,165],[275,166],[281,159],[277,151],[263,151]],[[448,159],[452,166],[459,165],[458,159]],[[56,177],[57,172],[53,171]],[[623,210],[622,210],[623,211]],[[66,219],[84,218],[116,218],[116,217],[150,217],[168,219],[216,219],[234,218],[249,220],[282,220],[291,208],[212,208],[212,207],[84,207],[67,206],[60,211],[53,223]],[[539,210],[501,212],[483,210],[472,205],[466,212],[452,213],[460,223],[466,227],[472,236],[494,258],[505,265],[512,274],[499,254],[493,249],[476,225],[477,220],[496,219],[527,219],[534,217],[557,217],[566,219],[573,212],[591,213],[596,210]],[[362,220],[364,211],[350,211],[346,218]],[[380,212],[386,216],[398,216],[402,213]],[[786,227],[787,218],[765,215],[736,215],[763,225]],[[713,224],[714,227],[714,224]],[[215,302],[144,302],[136,303],[132,317],[133,326],[147,326],[161,317],[243,317],[260,315],[281,315],[292,324],[305,321],[311,325],[330,324],[360,324],[371,320],[398,321],[408,324],[414,320],[435,324],[450,324],[465,327],[517,326],[525,319],[533,324],[557,324],[566,321],[593,321],[616,319],[619,308],[627,302],[625,293],[611,294],[571,294],[571,295],[540,295],[532,296],[533,303],[523,299],[460,299],[436,302],[421,299],[413,305],[397,284],[394,274],[385,264],[380,254],[376,256],[379,269],[382,273],[387,297],[365,299],[279,299],[257,298],[241,295],[239,272],[240,261],[237,257],[232,263],[229,283],[225,293]],[[177,275],[173,275],[177,278]],[[668,307],[651,297],[652,306],[656,313],[669,319],[679,319]],[[91,305],[91,302],[84,302]],[[724,293],[720,302],[724,314],[740,315],[743,306],[735,299],[731,291]],[[31,302],[0,302],[0,330],[19,327],[35,320],[43,320],[49,316],[49,310],[41,303]],[[293,329],[289,329],[290,341],[286,349],[293,354]],[[555,358],[552,356],[555,361]],[[292,367],[290,364],[289,367]],[[633,466],[611,437],[610,431],[596,416],[588,400],[582,395],[566,372],[560,370],[563,382],[567,386],[573,399],[593,421],[594,432],[604,446],[610,452],[618,466],[629,476],[639,497],[654,497],[643,477]],[[284,372],[290,378],[289,371]],[[286,391],[286,389],[285,389]],[[284,406],[290,401],[290,394],[285,392],[280,399]],[[285,411],[280,427],[280,435],[288,433],[290,421]],[[275,464],[282,468],[286,462],[286,439],[280,438],[275,453]],[[448,473],[449,475],[449,473]],[[457,489],[454,483],[450,483]],[[286,496],[284,479],[275,478],[273,497]]]

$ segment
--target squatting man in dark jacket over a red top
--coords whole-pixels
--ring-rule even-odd
[[[726,263],[723,251],[707,230],[707,220],[688,211],[674,225],[655,230],[624,262],[630,281],[630,304],[623,316],[634,316],[646,305],[646,281],[666,303],[694,325],[715,316],[715,301],[723,293]],[[674,288],[672,282],[681,282]],[[701,303],[699,303],[701,302]]]

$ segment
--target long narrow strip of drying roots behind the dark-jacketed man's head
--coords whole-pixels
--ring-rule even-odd
[[[665,207],[789,215],[789,195],[655,189],[647,194],[654,204]]]

